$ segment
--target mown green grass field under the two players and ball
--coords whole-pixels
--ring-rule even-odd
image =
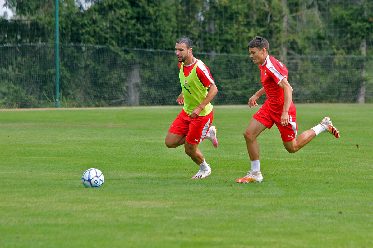
[[[164,145],[179,106],[0,111],[0,247],[373,247],[373,104],[297,104],[298,133],[329,116],[341,138],[289,154],[266,130],[263,182],[237,184],[258,107],[214,107],[201,180]]]

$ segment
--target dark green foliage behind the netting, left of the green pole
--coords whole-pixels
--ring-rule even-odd
[[[0,61],[1,107],[44,107],[44,95],[52,96],[53,50],[47,45],[4,46]],[[28,102],[29,101],[29,102]]]

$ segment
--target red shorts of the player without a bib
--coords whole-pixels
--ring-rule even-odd
[[[292,141],[295,139],[295,136],[297,136],[297,109],[295,109],[293,102],[291,102],[289,109],[289,124],[286,126],[281,125],[281,114],[272,112],[268,107],[267,101],[264,102],[259,111],[254,114],[253,118],[262,123],[268,129],[271,129],[273,123],[275,123],[281,133],[281,139],[284,142]]]

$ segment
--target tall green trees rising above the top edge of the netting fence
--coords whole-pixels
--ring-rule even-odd
[[[196,52],[242,54],[248,42],[261,35],[270,41],[273,55],[282,54],[280,49],[286,48],[288,56],[315,51],[334,55],[341,49],[347,54],[359,54],[360,44],[356,43],[366,38],[368,54],[373,53],[372,0],[87,2],[91,5],[84,9],[81,1],[60,1],[62,44],[172,50],[177,38],[188,35],[195,41]],[[4,43],[40,39],[54,42],[53,0],[6,0],[6,6],[15,9],[19,20],[3,28],[7,33]],[[38,37],[32,37],[35,32],[31,32],[29,23],[34,23]],[[30,31],[19,32],[16,25]]]

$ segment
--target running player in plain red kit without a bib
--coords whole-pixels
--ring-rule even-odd
[[[329,132],[335,138],[339,138],[337,129],[333,126],[329,117],[325,117],[318,125],[301,133],[298,132],[296,109],[292,102],[293,89],[288,80],[288,69],[277,59],[268,55],[269,44],[266,39],[256,36],[249,45],[250,58],[254,64],[259,64],[261,71],[261,84],[263,88],[258,90],[249,99],[249,107],[257,106],[256,101],[264,93],[267,100],[250,120],[248,128],[244,132],[247,151],[251,160],[251,171],[245,177],[236,180],[237,183],[261,182],[263,176],[260,172],[258,135],[264,129],[270,129],[276,124],[280,131],[285,149],[294,153],[305,146],[319,133]]]

